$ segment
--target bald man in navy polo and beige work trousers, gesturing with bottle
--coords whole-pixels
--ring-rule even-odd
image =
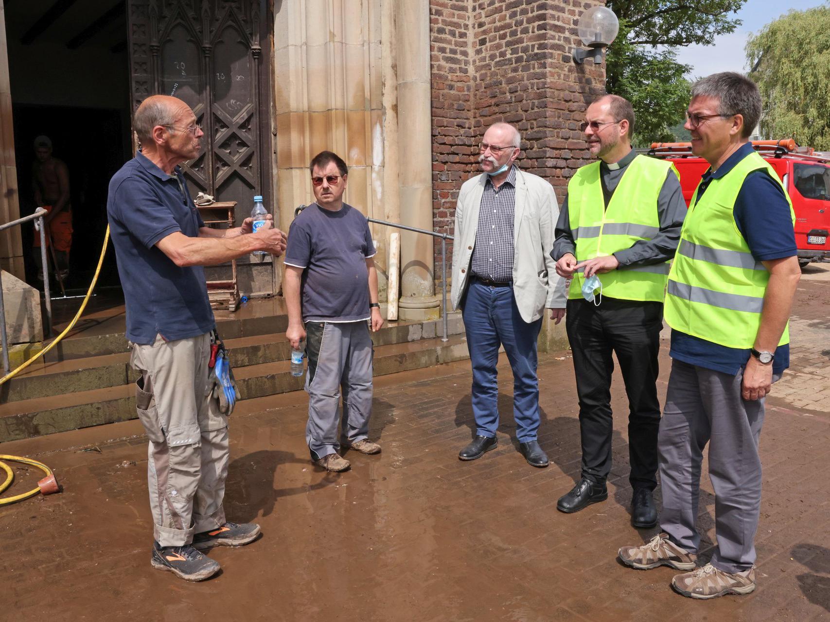
[[[260,533],[256,524],[227,522],[222,508],[229,413],[220,410],[208,384],[215,323],[203,266],[254,250],[280,255],[286,236],[271,222],[251,233],[250,218],[236,229],[205,226],[178,167],[197,157],[203,136],[182,100],[144,100],[134,129],[142,150],[110,181],[107,215],[124,289],[130,364],[141,372],[136,406],[149,439],[151,563],[202,581],[219,565],[199,550],[238,547]]]

